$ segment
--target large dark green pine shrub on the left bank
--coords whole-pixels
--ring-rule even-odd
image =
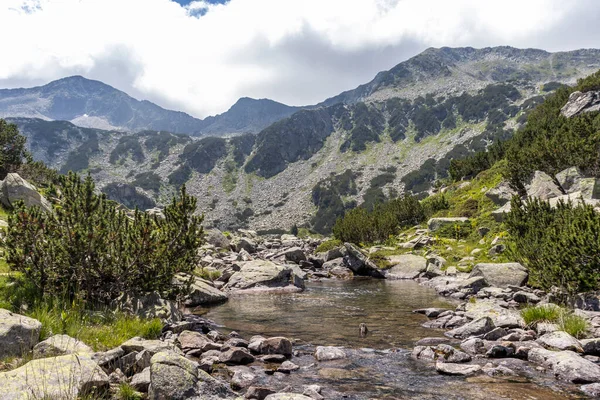
[[[58,296],[107,303],[124,292],[177,294],[172,278],[191,272],[202,244],[202,217],[185,187],[164,209],[165,218],[137,211],[130,218],[116,203],[69,173],[54,190],[54,213],[17,205],[9,216],[7,261],[38,289]]]

